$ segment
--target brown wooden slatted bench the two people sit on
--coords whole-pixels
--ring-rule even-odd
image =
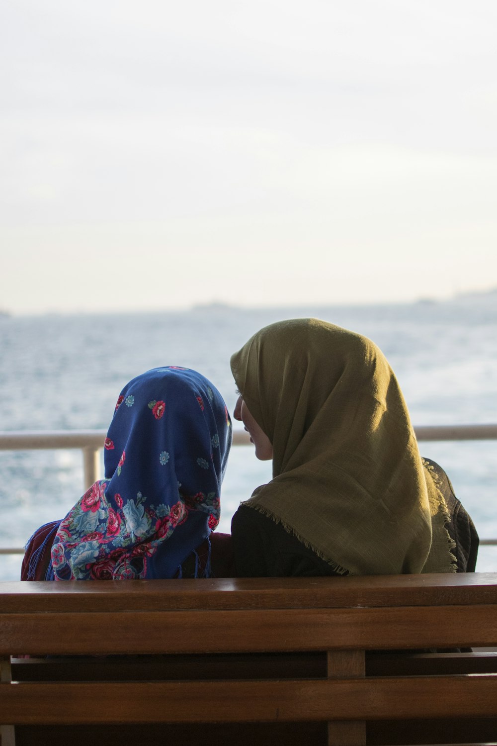
[[[496,742],[497,653],[419,652],[496,645],[497,574],[0,583],[1,746]]]

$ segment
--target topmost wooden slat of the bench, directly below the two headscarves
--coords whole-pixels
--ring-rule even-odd
[[[496,573],[0,583],[1,612],[497,604]]]

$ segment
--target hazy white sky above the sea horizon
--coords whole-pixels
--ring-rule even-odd
[[[0,308],[497,286],[495,0],[3,0]]]

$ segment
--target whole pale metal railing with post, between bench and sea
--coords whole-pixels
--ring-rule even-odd
[[[423,425],[414,427],[419,441],[497,440],[497,424]],[[0,432],[0,451],[32,451],[79,448],[83,452],[83,482],[88,489],[98,479],[99,452],[105,430],[23,430]],[[250,436],[233,430],[233,445],[250,445]],[[480,545],[497,545],[497,539],[480,539]],[[0,554],[24,554],[23,548],[0,548]]]

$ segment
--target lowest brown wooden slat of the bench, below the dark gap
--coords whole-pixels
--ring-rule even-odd
[[[497,675],[0,684],[0,722],[336,721],[497,716]]]

